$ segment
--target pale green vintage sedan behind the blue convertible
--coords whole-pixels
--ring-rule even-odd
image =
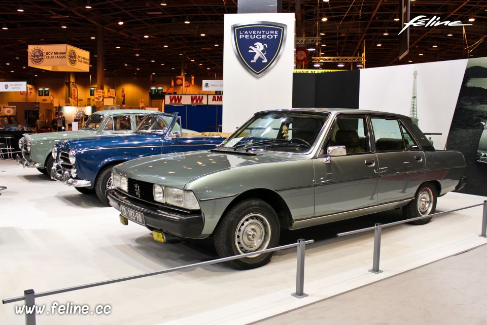
[[[54,158],[52,146],[68,139],[132,133],[144,116],[153,113],[146,110],[106,110],[93,113],[78,131],[29,134],[19,140],[22,156],[17,155],[17,165],[37,168],[49,175]]]

